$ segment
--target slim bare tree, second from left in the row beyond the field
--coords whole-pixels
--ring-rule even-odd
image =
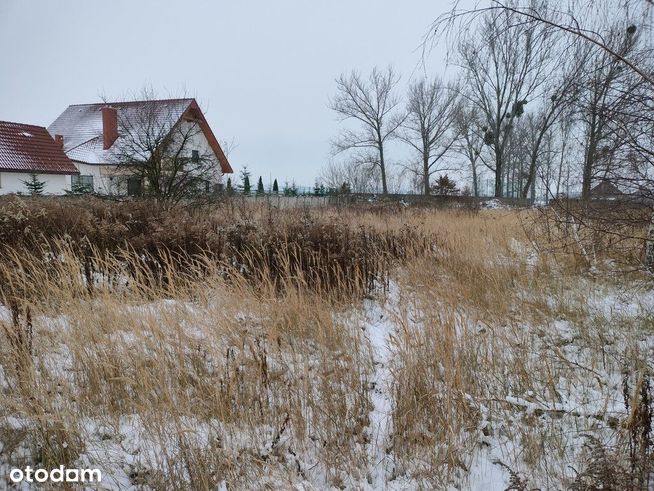
[[[407,169],[421,184],[424,194],[431,192],[430,178],[445,169],[440,164],[457,140],[454,119],[459,101],[458,89],[444,85],[435,77],[421,79],[409,86],[406,119],[399,138],[418,155]]]

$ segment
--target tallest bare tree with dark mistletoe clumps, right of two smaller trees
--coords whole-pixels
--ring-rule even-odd
[[[495,196],[504,192],[515,119],[547,79],[552,43],[549,31],[510,11],[489,11],[476,31],[459,39],[466,94],[485,119],[484,141],[492,149],[485,163],[495,174]]]

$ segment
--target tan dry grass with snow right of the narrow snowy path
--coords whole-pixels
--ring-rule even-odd
[[[522,483],[515,489],[647,489],[651,286],[642,277],[580,273],[576,254],[542,248],[544,237],[532,242],[538,216],[416,217],[441,240],[435,257],[415,258],[399,273],[391,339],[397,472],[440,489],[466,475],[476,451],[499,445],[493,458]]]

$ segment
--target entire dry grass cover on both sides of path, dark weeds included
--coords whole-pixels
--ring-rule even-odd
[[[54,223],[21,213],[21,226]],[[539,251],[531,212],[193,213],[185,232],[159,230],[161,249],[106,231],[80,249],[34,224],[14,237],[0,264],[14,313],[0,313],[0,463],[90,462],[154,489],[442,489],[465,487],[493,447],[498,466],[555,488],[592,474],[591,434],[628,473],[643,413],[614,409],[623,382],[642,406],[653,317],[601,311],[591,300],[624,280]],[[360,315],[370,304],[387,366]],[[651,455],[638,458],[642,471]]]

